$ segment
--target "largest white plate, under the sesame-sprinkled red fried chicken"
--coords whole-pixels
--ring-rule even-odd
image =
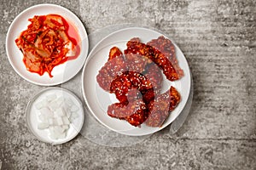
[[[142,42],[148,42],[152,39],[162,36],[163,34],[158,31],[149,30],[142,27],[131,27],[123,30],[115,31],[108,37],[102,39],[101,42],[96,44],[85,61],[83,75],[82,75],[82,88],[86,105],[88,106],[91,114],[103,125],[112,129],[117,133],[127,134],[131,136],[140,136],[150,133],[155,133],[160,129],[168,126],[175,118],[183,111],[189,97],[190,90],[190,71],[187,60],[185,59],[182,51],[175,45],[178,64],[183,69],[184,77],[175,82],[170,82],[164,77],[162,91],[165,92],[171,85],[177,88],[181,94],[181,102],[177,108],[172,111],[171,115],[166,119],[162,127],[148,127],[144,123],[141,127],[133,127],[128,122],[112,118],[108,116],[108,105],[118,102],[114,94],[108,94],[99,87],[96,82],[96,75],[102,66],[108,60],[109,49],[116,46],[123,51],[126,48],[126,42],[132,37],[139,37]],[[173,41],[172,41],[173,42]]]

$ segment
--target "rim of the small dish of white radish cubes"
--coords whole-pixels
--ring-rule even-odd
[[[49,90],[61,90],[61,91],[65,91],[65,93],[71,94],[78,102],[79,104],[82,106],[82,114],[80,115],[80,119],[82,119],[82,124],[81,126],[76,129],[76,133],[73,133],[73,135],[70,138],[67,138],[63,141],[59,141],[59,142],[55,142],[52,140],[52,142],[49,142],[47,140],[44,140],[43,138],[40,138],[40,135],[38,135],[38,133],[35,132],[35,130],[32,128],[32,124],[29,121],[30,115],[31,115],[31,109],[32,109],[32,105],[33,102],[38,99],[38,97],[40,97],[40,95],[44,94],[45,92],[49,91]],[[67,88],[58,88],[58,87],[49,87],[49,88],[44,88],[43,90],[40,90],[37,94],[35,94],[32,99],[29,100],[29,102],[26,105],[26,125],[28,130],[39,140],[42,141],[44,143],[48,143],[48,144],[64,144],[67,143],[69,141],[71,141],[72,139],[74,139],[82,130],[82,128],[84,127],[84,105],[83,102],[81,101],[81,99],[79,99],[79,97],[74,94],[73,92],[71,92],[70,90],[68,90]]]

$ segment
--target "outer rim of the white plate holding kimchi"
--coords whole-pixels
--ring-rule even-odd
[[[32,10],[33,8],[39,8],[39,7],[54,7],[54,8],[60,8],[61,10],[67,12],[68,14],[72,15],[73,17],[76,18],[76,20],[79,20],[79,26],[82,26],[82,31],[84,31],[84,35],[85,37],[83,37],[83,40],[81,40],[81,42],[85,41],[85,45],[87,46],[84,50],[84,59],[83,59],[83,63],[79,66],[79,69],[77,71],[75,71],[73,73],[73,76],[71,77],[67,77],[66,79],[62,79],[61,81],[57,81],[57,82],[37,82],[37,81],[33,81],[31,80],[29,77],[26,77],[24,76],[14,65],[13,61],[11,60],[11,57],[10,57],[10,54],[9,54],[9,45],[8,45],[8,42],[10,42],[11,40],[9,39],[10,36],[9,34],[11,33],[11,29],[13,28],[13,26],[15,25],[15,23],[17,22],[18,19],[20,19],[20,17],[23,15],[23,14],[26,14],[28,13],[30,10]],[[36,15],[36,14],[34,14]],[[28,20],[28,19],[27,19]],[[20,31],[21,32],[21,31]],[[85,26],[83,24],[83,22],[79,19],[79,17],[74,14],[71,10],[69,10],[68,8],[65,8],[65,7],[62,7],[61,5],[57,5],[57,4],[54,4],[54,3],[39,3],[39,4],[36,4],[36,5],[32,5],[31,7],[28,7],[26,9],[24,9],[23,11],[20,12],[20,14],[17,14],[15,16],[15,19],[12,21],[12,23],[9,25],[9,29],[7,31],[7,34],[6,34],[6,39],[5,39],[5,49],[6,49],[6,55],[7,55],[7,58],[9,59],[9,63],[10,65],[12,66],[12,68],[15,70],[15,72],[20,76],[22,77],[24,80],[26,80],[27,82],[31,82],[33,84],[36,84],[36,85],[39,85],[39,86],[55,86],[55,85],[58,85],[58,84],[61,84],[61,83],[64,83],[64,82],[67,82],[69,81],[70,79],[72,79],[73,77],[75,77],[79,71],[81,71],[81,69],[83,68],[84,66],[84,63],[88,57],[88,54],[89,54],[89,38],[88,38],[88,33],[85,29]],[[34,74],[34,73],[33,73]]]

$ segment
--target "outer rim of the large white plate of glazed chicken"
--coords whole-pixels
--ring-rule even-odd
[[[133,129],[131,129],[131,130],[126,130],[126,131],[120,131],[120,130],[113,129],[112,127],[108,127],[107,124],[105,124],[104,122],[102,122],[102,121],[93,113],[92,109],[90,108],[90,105],[88,105],[87,97],[85,96],[85,92],[84,92],[84,85],[85,85],[85,84],[84,84],[84,74],[85,74],[84,72],[85,72],[85,67],[86,67],[86,65],[88,64],[88,62],[89,62],[89,60],[90,60],[90,58],[91,58],[90,55],[93,54],[93,52],[95,51],[95,49],[97,48],[97,46],[98,46],[99,44],[101,44],[103,41],[105,41],[108,37],[111,37],[111,36],[113,36],[114,34],[120,32],[120,31],[126,31],[126,30],[130,30],[130,29],[141,29],[141,30],[147,30],[147,31],[154,31],[155,33],[161,34],[161,35],[163,35],[164,37],[167,37],[168,39],[170,39],[170,40],[172,41],[172,43],[174,44],[175,48],[178,48],[178,50],[183,54],[183,51],[177,46],[177,44],[175,43],[175,41],[173,41],[172,38],[166,36],[166,34],[163,33],[162,31],[156,31],[155,29],[150,29],[150,28],[148,28],[148,27],[143,27],[143,26],[131,26],[131,27],[125,27],[125,28],[123,28],[123,29],[119,29],[119,30],[117,30],[117,31],[113,31],[112,33],[108,34],[108,36],[103,37],[99,42],[96,43],[96,45],[95,45],[93,48],[91,48],[90,53],[88,54],[87,59],[85,60],[84,68],[83,68],[83,71],[82,71],[82,78],[81,78],[81,81],[82,81],[82,92],[83,92],[84,102],[85,102],[86,106],[88,107],[88,110],[90,111],[89,114],[92,114],[92,115],[94,116],[94,118],[96,118],[96,120],[97,120],[98,122],[100,122],[104,127],[107,127],[108,129],[112,130],[113,132],[120,133],[120,134],[125,134],[125,135],[129,135],[129,136],[144,136],[144,135],[148,135],[148,134],[153,134],[153,133],[159,132],[159,131],[162,130],[163,128],[165,128],[165,127],[171,125],[172,122],[174,122],[174,120],[177,118],[177,116],[179,116],[179,115],[181,114],[181,112],[182,112],[183,109],[184,109],[184,106],[186,105],[186,103],[187,103],[187,101],[188,101],[188,99],[189,99],[189,94],[190,94],[190,89],[191,89],[191,81],[192,81],[191,77],[192,77],[192,75],[191,75],[191,70],[190,70],[190,68],[189,68],[188,60],[186,59],[185,55],[183,54],[183,58],[184,58],[185,61],[186,61],[185,64],[186,64],[186,65],[188,66],[188,68],[189,68],[189,75],[188,75],[188,76],[189,76],[189,94],[186,96],[185,104],[183,105],[183,108],[181,108],[181,111],[180,111],[180,112],[177,114],[177,116],[172,120],[172,122],[169,122],[169,123],[167,123],[166,125],[164,125],[164,126],[162,126],[162,127],[155,127],[156,130],[154,130],[153,132],[141,133],[141,134],[129,133],[129,131],[131,131],[131,130],[133,130]],[[128,132],[128,133],[127,133],[127,132]]]

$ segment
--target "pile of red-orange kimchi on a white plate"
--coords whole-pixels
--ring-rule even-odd
[[[51,71],[56,65],[79,56],[76,37],[68,35],[71,26],[61,15],[35,15],[29,21],[26,31],[15,39],[27,71],[40,76],[47,72],[53,77]]]

